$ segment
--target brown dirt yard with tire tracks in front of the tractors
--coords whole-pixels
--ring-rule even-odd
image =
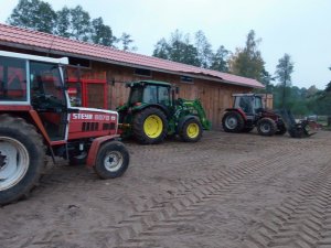
[[[120,179],[51,166],[0,208],[0,247],[331,247],[331,132],[126,144]]]

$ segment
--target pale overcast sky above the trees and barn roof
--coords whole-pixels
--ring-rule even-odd
[[[129,33],[137,53],[151,55],[156,43],[179,29],[202,30],[213,48],[234,52],[249,30],[261,37],[259,50],[273,75],[278,60],[290,54],[292,84],[323,89],[331,80],[330,0],[44,0],[54,10],[81,4],[90,18],[102,17],[115,35]],[[0,0],[4,23],[19,0]],[[328,21],[329,20],[329,21]]]

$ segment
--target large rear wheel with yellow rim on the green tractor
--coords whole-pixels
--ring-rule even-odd
[[[147,125],[146,121],[149,121]],[[146,127],[149,130],[146,130]],[[154,125],[154,126],[152,126]],[[168,120],[164,112],[158,108],[145,108],[134,117],[134,137],[142,144],[161,143],[168,131]]]

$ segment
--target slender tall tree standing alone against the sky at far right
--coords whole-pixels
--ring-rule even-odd
[[[280,85],[282,85],[282,107],[286,107],[286,88],[291,86],[291,74],[293,72],[293,63],[291,62],[291,57],[289,54],[285,54],[278,61],[278,65],[276,66],[276,77],[278,78]]]

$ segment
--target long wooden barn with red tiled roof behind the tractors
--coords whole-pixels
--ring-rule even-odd
[[[0,24],[0,50],[68,57],[68,84],[81,84],[83,105],[88,107],[115,109],[125,103],[126,82],[154,79],[175,84],[180,97],[202,100],[214,129],[221,127],[223,112],[232,105],[232,94],[264,87],[252,78],[4,24]]]

